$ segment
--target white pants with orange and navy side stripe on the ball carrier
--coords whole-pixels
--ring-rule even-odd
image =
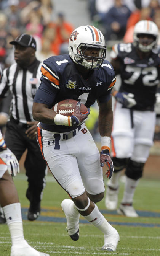
[[[63,133],[49,132],[37,126],[42,155],[56,181],[72,198],[82,195],[85,189],[93,195],[104,192],[98,148],[85,123],[76,132],[74,137],[66,140]]]

